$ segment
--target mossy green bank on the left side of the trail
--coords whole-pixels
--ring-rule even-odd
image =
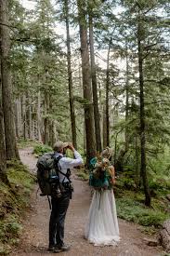
[[[29,207],[30,193],[35,178],[19,161],[7,162],[9,188],[0,182],[0,255],[7,255],[12,245],[20,241],[20,217]]]

